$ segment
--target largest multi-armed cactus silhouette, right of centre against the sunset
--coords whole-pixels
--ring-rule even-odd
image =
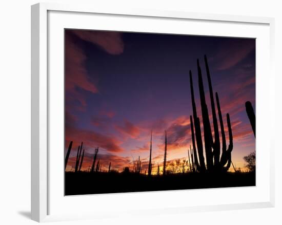
[[[205,66],[208,78],[208,86],[209,86],[209,95],[210,95],[210,103],[212,110],[212,123],[213,123],[213,132],[214,137],[212,135],[212,128],[209,119],[209,110],[206,103],[205,90],[203,84],[202,70],[199,65],[199,60],[197,59],[197,72],[198,72],[198,88],[200,95],[200,107],[202,112],[202,123],[204,129],[204,142],[202,140],[202,131],[200,126],[200,119],[197,116],[197,108],[194,97],[194,88],[193,88],[193,79],[192,72],[189,71],[190,76],[190,89],[191,89],[191,101],[192,101],[192,109],[193,116],[190,115],[190,123],[191,123],[191,133],[192,133],[192,145],[193,145],[193,157],[196,170],[198,172],[205,171],[217,171],[223,172],[228,171],[231,165],[231,152],[233,149],[233,136],[232,136],[232,128],[230,122],[229,114],[226,115],[227,118],[227,126],[228,126],[228,134],[229,134],[229,146],[226,145],[226,136],[224,129],[223,117],[221,115],[221,108],[218,98],[218,93],[215,93],[216,105],[217,105],[217,113],[220,124],[221,131],[221,157],[220,157],[220,139],[219,139],[219,128],[217,123],[217,115],[215,110],[214,103],[214,94],[210,77],[210,70],[208,66],[208,60],[205,55]],[[206,163],[204,157],[204,146],[206,153]]]

